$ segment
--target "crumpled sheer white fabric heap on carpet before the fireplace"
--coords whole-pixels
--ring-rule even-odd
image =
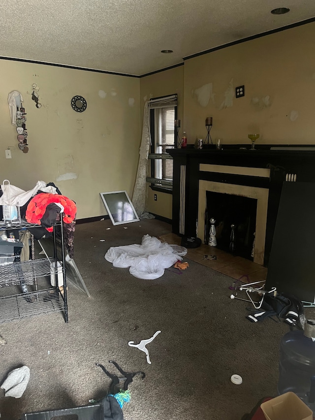
[[[129,268],[130,274],[138,279],[154,280],[164,274],[164,269],[182,260],[187,249],[178,245],[162,243],[158,238],[144,235],[141,245],[111,247],[105,259],[114,267]]]

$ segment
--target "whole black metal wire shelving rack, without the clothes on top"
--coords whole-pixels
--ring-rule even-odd
[[[16,217],[15,213],[12,213],[10,183],[8,180],[5,180],[3,181],[3,185],[5,182],[9,199],[7,200],[5,196],[3,198],[3,202],[6,203],[6,201],[8,201],[8,204],[2,206],[3,220],[0,220],[0,232],[3,232],[4,230],[10,232],[14,229],[21,230],[41,226],[34,223],[28,223],[21,218],[19,203],[16,204],[18,217]],[[57,258],[56,226],[60,226],[58,235],[60,236],[61,242],[61,259]],[[32,236],[32,259],[22,262],[12,262],[8,259],[7,264],[3,263],[3,259],[1,260],[0,323],[32,317],[34,315],[49,314],[52,312],[63,312],[64,321],[66,323],[68,322],[62,217],[53,224],[53,239],[54,258],[48,258],[47,255],[47,258],[34,258]],[[49,287],[47,284],[48,279],[44,279],[44,277],[49,277],[50,282],[52,282],[53,277],[55,277],[55,283],[58,284],[59,275],[61,273],[63,274],[63,287],[60,287],[60,289],[58,285]],[[43,288],[38,288],[38,278],[42,278],[40,283]],[[17,289],[16,286],[18,289],[22,289],[19,294],[15,294]],[[29,291],[27,286],[33,286],[33,291]],[[48,287],[49,289],[47,289]],[[14,289],[14,294],[12,294],[12,288]]]

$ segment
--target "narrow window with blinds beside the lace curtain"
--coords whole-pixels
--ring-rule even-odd
[[[176,142],[177,95],[151,100],[151,178],[148,181],[152,186],[172,190],[173,160],[166,149],[174,148]]]

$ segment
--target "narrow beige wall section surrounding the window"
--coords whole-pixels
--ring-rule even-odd
[[[184,66],[171,68],[140,79],[140,100],[141,115],[143,115],[143,106],[146,100],[151,97],[160,97],[166,95],[178,95],[177,118],[181,120],[181,129],[179,135],[183,133],[183,115],[184,115]],[[150,162],[149,162],[150,165]],[[148,168],[149,168],[148,165]],[[158,191],[153,191],[147,185],[146,210],[167,219],[172,219],[172,195]],[[157,194],[157,201],[154,201],[154,194]]]

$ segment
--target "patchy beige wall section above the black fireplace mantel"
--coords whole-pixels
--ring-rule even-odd
[[[315,142],[315,23],[263,36],[185,61],[188,143],[211,136],[226,143]],[[245,97],[235,87],[245,85]],[[229,92],[229,89],[231,90]]]

